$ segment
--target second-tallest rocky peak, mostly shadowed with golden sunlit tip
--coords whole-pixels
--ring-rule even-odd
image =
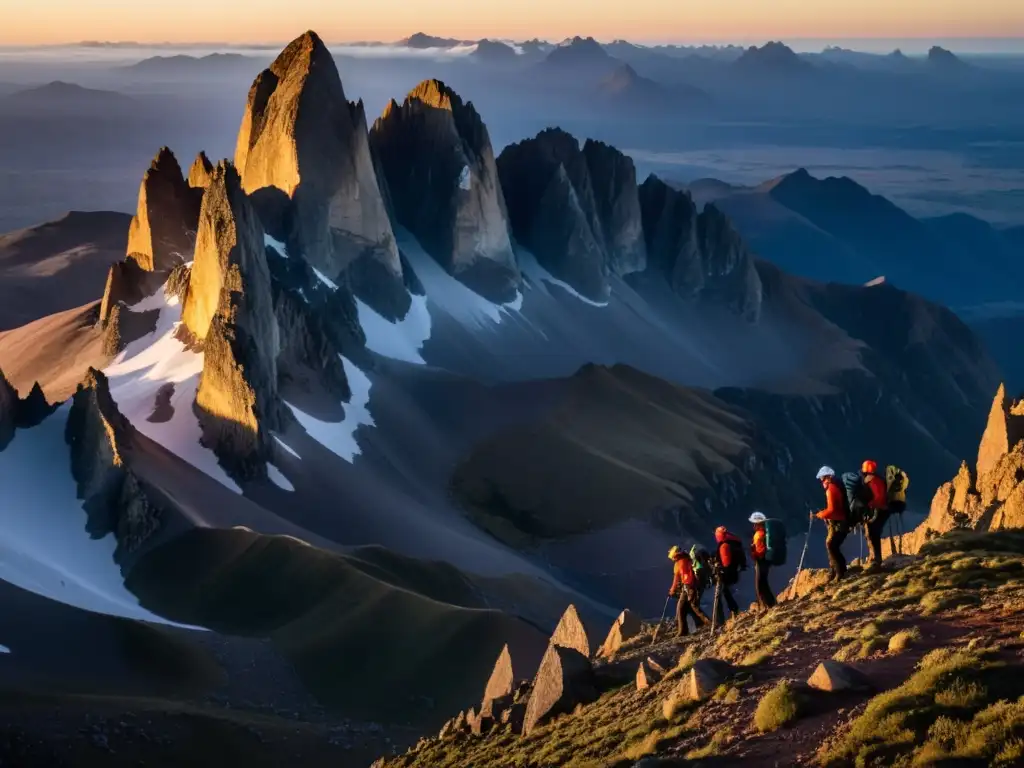
[[[370,133],[396,219],[451,274],[497,302],[519,284],[490,138],[439,80],[393,100]]]

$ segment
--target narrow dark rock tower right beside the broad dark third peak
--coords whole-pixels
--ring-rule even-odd
[[[643,271],[647,266],[647,248],[633,160],[593,139],[584,143],[583,154],[590,170],[608,269],[614,274]]]

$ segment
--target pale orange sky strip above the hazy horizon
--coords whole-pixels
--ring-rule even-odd
[[[1024,0],[0,0],[0,43],[1024,37]]]

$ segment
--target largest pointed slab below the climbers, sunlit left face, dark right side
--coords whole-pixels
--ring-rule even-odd
[[[572,648],[551,644],[541,659],[526,702],[522,732],[597,698],[590,660]]]

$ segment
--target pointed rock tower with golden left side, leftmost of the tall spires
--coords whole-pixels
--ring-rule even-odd
[[[191,259],[201,194],[188,186],[166,146],[142,176],[128,228],[128,256],[145,271],[169,271]]]

